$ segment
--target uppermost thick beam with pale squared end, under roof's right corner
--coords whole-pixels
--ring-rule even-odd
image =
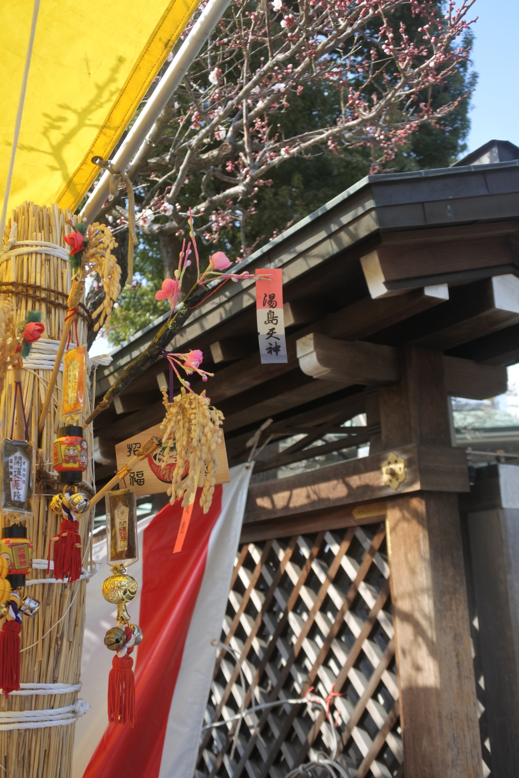
[[[415,246],[384,246],[360,259],[370,293],[467,283],[492,275],[519,275],[519,257],[510,236],[445,240]]]

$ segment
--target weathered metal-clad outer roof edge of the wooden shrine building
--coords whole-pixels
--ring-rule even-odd
[[[317,209],[240,263],[240,269],[281,267],[284,282],[299,278],[339,251],[388,233],[518,219],[519,161],[369,176]],[[416,236],[417,242],[419,236]],[[424,236],[423,240],[426,240]],[[254,306],[253,282],[227,284],[193,314],[171,346],[184,349],[202,333]],[[402,283],[400,284],[402,286]],[[410,284],[413,286],[413,284]],[[414,285],[416,286],[416,284]],[[146,348],[161,317],[115,350],[110,366],[98,369],[97,394],[109,377]]]

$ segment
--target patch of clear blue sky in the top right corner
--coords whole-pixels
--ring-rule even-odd
[[[474,68],[479,73],[472,97],[472,128],[468,151],[491,138],[519,145],[519,0],[476,0],[470,19],[473,26]]]

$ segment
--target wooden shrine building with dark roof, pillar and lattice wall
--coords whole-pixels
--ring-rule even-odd
[[[235,724],[205,731],[196,775],[281,778],[334,748],[357,778],[519,775],[519,468],[469,468],[450,402],[502,394],[519,360],[519,149],[366,177],[241,266],[282,268],[288,363],[261,365],[247,282],[170,344],[215,373],[192,387],[225,415],[230,466],[268,443],[223,632],[257,705],[343,696],[337,728],[287,704],[234,750]],[[97,370],[98,399],[158,326]],[[98,485],[163,418],[161,373],[94,422]],[[219,657],[208,720],[242,697]]]

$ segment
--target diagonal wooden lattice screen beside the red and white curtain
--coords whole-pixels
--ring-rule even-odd
[[[282,778],[317,752],[332,726],[319,706],[287,703],[236,717],[310,687],[338,721],[338,764],[349,776],[403,776],[384,524],[251,543],[240,548],[222,640],[246,657],[219,654],[205,713],[198,778]],[[246,689],[244,689],[244,684]],[[235,742],[233,748],[233,741]],[[323,773],[324,776],[324,773]]]

